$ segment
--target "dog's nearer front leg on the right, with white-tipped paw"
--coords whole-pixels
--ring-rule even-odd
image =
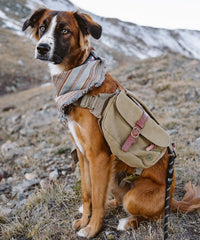
[[[78,235],[90,238],[94,237],[102,226],[112,162],[115,157],[107,152],[96,155],[95,152],[90,151],[88,158],[92,187],[92,216],[88,226],[81,229]]]

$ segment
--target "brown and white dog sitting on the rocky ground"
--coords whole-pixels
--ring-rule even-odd
[[[92,18],[79,12],[38,9],[27,19],[28,27],[38,40],[35,57],[48,61],[51,74],[59,74],[82,65],[90,55],[89,36],[99,39],[102,28]],[[112,93],[122,86],[108,73],[103,84],[89,94]],[[158,219],[164,215],[168,153],[152,167],[144,169],[134,184],[119,187],[117,174],[132,173],[133,168],[117,160],[111,153],[98,125],[98,119],[88,109],[73,107],[68,115],[68,127],[78,150],[83,198],[82,217],[73,223],[82,237],[93,237],[101,229],[106,207],[123,204],[130,217],[120,220],[118,230],[137,227],[144,219]],[[182,212],[200,207],[200,189],[187,185],[182,201],[173,199],[173,177],[170,207]],[[113,200],[107,201],[108,194]]]

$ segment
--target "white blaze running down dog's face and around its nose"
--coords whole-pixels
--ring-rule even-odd
[[[50,51],[49,51],[49,59],[52,58],[53,56],[53,53],[54,53],[54,48],[55,48],[55,37],[54,37],[54,33],[55,33],[55,28],[56,28],[56,25],[57,25],[57,16],[53,17],[52,20],[51,20],[51,23],[49,25],[49,28],[47,30],[46,33],[44,33],[44,35],[42,36],[42,38],[39,40],[39,42],[37,43],[36,45],[36,48],[35,48],[35,58],[37,58],[37,46],[40,44],[40,43],[45,43],[45,44],[48,44],[50,46]]]

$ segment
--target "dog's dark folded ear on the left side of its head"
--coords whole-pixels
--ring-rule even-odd
[[[36,10],[33,15],[24,22],[22,31],[25,31],[29,26],[31,28],[37,27],[39,20],[41,19],[46,10],[46,8],[39,8],[38,10]]]

